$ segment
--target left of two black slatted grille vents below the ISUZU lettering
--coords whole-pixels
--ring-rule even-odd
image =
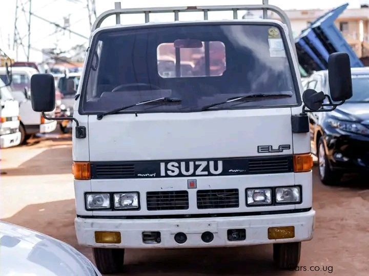
[[[146,202],[149,211],[189,209],[187,191],[147,192]]]

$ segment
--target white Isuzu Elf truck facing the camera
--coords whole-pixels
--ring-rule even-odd
[[[207,20],[226,10],[233,20]],[[245,10],[265,19],[238,20]],[[174,21],[150,22],[160,12]],[[204,20],[179,21],[189,12]],[[146,23],[119,25],[133,13]],[[117,26],[100,27],[111,15]],[[330,56],[331,96],[303,93],[289,19],[265,3],[118,3],[92,31],[69,119],[76,235],[99,270],[120,271],[125,248],[269,243],[279,267],[296,267],[315,215],[306,112],[352,96],[348,56]],[[54,89],[51,75],[32,76],[35,111],[54,109]]]

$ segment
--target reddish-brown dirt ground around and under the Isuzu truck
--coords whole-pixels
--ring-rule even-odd
[[[77,244],[72,148],[68,135],[49,135],[0,152],[0,218]],[[369,181],[346,177],[326,187],[314,168],[317,212],[314,239],[302,243],[300,271],[280,271],[272,246],[214,249],[126,250],[131,275],[369,275]],[[318,270],[318,271],[315,271]]]

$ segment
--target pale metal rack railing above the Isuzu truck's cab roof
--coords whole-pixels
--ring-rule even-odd
[[[162,8],[133,8],[133,9],[122,9],[120,2],[115,2],[115,9],[103,12],[99,17],[96,18],[92,32],[101,26],[103,21],[112,15],[115,15],[116,24],[120,24],[121,14],[142,14],[145,16],[145,22],[150,22],[150,14],[152,13],[173,13],[174,21],[179,21],[179,14],[183,12],[202,12],[203,19],[208,20],[208,13],[213,11],[232,11],[233,19],[238,19],[238,11],[251,11],[260,10],[263,12],[263,19],[268,18],[268,11],[272,11],[278,14],[289,30],[289,38],[291,40],[292,48],[296,56],[296,49],[294,38],[291,29],[291,22],[288,16],[280,8],[269,5],[268,0],[262,0],[262,5],[236,5],[236,6],[189,6],[189,7],[162,7]]]

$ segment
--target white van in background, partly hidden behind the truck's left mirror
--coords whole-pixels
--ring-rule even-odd
[[[31,67],[12,68],[10,88],[14,99],[19,102],[21,144],[26,142],[32,134],[51,132],[56,128],[56,121],[48,121],[42,117],[40,112],[32,110],[29,93],[30,80],[31,76],[37,73],[37,70]],[[0,78],[4,82],[8,81],[5,67],[0,67]]]

